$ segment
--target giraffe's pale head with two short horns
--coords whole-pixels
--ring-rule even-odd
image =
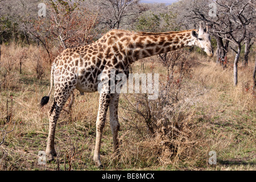
[[[200,23],[199,31],[192,31],[192,36],[195,39],[195,45],[201,48],[204,52],[207,53],[209,57],[213,57],[213,48],[210,43],[209,27],[207,26],[204,30],[202,23]]]

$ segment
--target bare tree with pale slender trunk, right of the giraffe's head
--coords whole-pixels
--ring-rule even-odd
[[[211,10],[209,4],[213,3],[216,6],[216,16],[210,16]],[[203,6],[204,5],[204,6]],[[217,0],[217,1],[195,1],[193,7],[194,20],[203,20],[205,23],[209,23],[212,34],[217,37],[218,50],[228,51],[227,47],[222,44],[222,39],[233,44],[228,44],[230,48],[236,52],[234,59],[234,85],[237,85],[237,65],[240,57],[242,45],[250,32],[255,32],[255,8],[252,4],[252,0]],[[254,27],[254,28],[248,28]],[[217,42],[218,43],[218,42]],[[223,45],[223,46],[222,46]],[[222,59],[223,53],[218,54],[219,59]]]

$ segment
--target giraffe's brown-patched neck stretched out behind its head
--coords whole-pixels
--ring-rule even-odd
[[[195,46],[195,38],[191,34],[192,31],[185,30],[166,33],[138,32],[131,36],[131,41],[127,45],[127,56],[134,62],[144,57],[158,55],[159,53]]]

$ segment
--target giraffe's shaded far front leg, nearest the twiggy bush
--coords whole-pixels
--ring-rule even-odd
[[[113,135],[113,147],[114,153],[119,154],[118,150],[118,130],[119,130],[119,122],[118,122],[118,100],[119,100],[119,93],[112,94],[109,102],[109,116],[110,116],[110,127]]]

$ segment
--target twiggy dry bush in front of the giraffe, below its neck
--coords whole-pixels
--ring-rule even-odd
[[[207,140],[198,140],[203,133],[193,120],[195,109],[192,107],[196,95],[203,91],[193,90],[189,96],[188,87],[183,81],[184,75],[190,74],[193,60],[188,59],[188,52],[179,50],[160,55],[158,62],[164,65],[167,72],[167,76],[159,78],[158,99],[148,100],[148,94],[126,97],[129,106],[123,109],[130,118],[125,117],[124,121],[146,138],[141,143],[143,151],[149,152],[148,156],[156,158],[160,165],[176,165],[184,159],[195,162],[206,158],[202,155],[203,151],[197,150],[207,148]]]

